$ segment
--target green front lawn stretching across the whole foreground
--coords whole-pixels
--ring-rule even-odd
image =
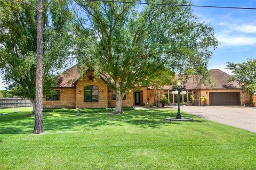
[[[48,112],[41,135],[30,111],[0,109],[0,169],[256,169],[255,133],[173,110]]]

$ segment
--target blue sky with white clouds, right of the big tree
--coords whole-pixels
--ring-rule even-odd
[[[254,7],[256,0],[192,0],[194,5]],[[256,58],[256,10],[193,7],[200,21],[214,28],[220,45],[214,51],[209,69],[225,69],[227,62]],[[4,89],[0,78],[0,89]]]

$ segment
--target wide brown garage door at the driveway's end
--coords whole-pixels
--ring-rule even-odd
[[[240,105],[240,92],[210,92],[210,105]]]

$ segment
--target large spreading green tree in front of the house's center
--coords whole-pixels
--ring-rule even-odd
[[[150,1],[151,2],[151,1]],[[189,4],[187,1],[152,1]],[[94,67],[116,91],[116,113],[134,86],[147,84],[162,66],[182,74],[207,74],[217,47],[214,32],[190,7],[75,0],[77,61]],[[139,10],[138,10],[139,9]],[[78,26],[77,26],[78,27]],[[82,33],[90,36],[79,36]]]

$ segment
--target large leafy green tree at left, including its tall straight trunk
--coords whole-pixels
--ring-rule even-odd
[[[40,133],[43,86],[51,86],[54,73],[67,62],[71,15],[65,0],[51,4],[38,1],[38,8],[35,0],[17,2],[0,2],[0,68],[9,89],[15,89],[15,96],[29,98],[34,112],[35,99],[38,101],[34,133]]]

